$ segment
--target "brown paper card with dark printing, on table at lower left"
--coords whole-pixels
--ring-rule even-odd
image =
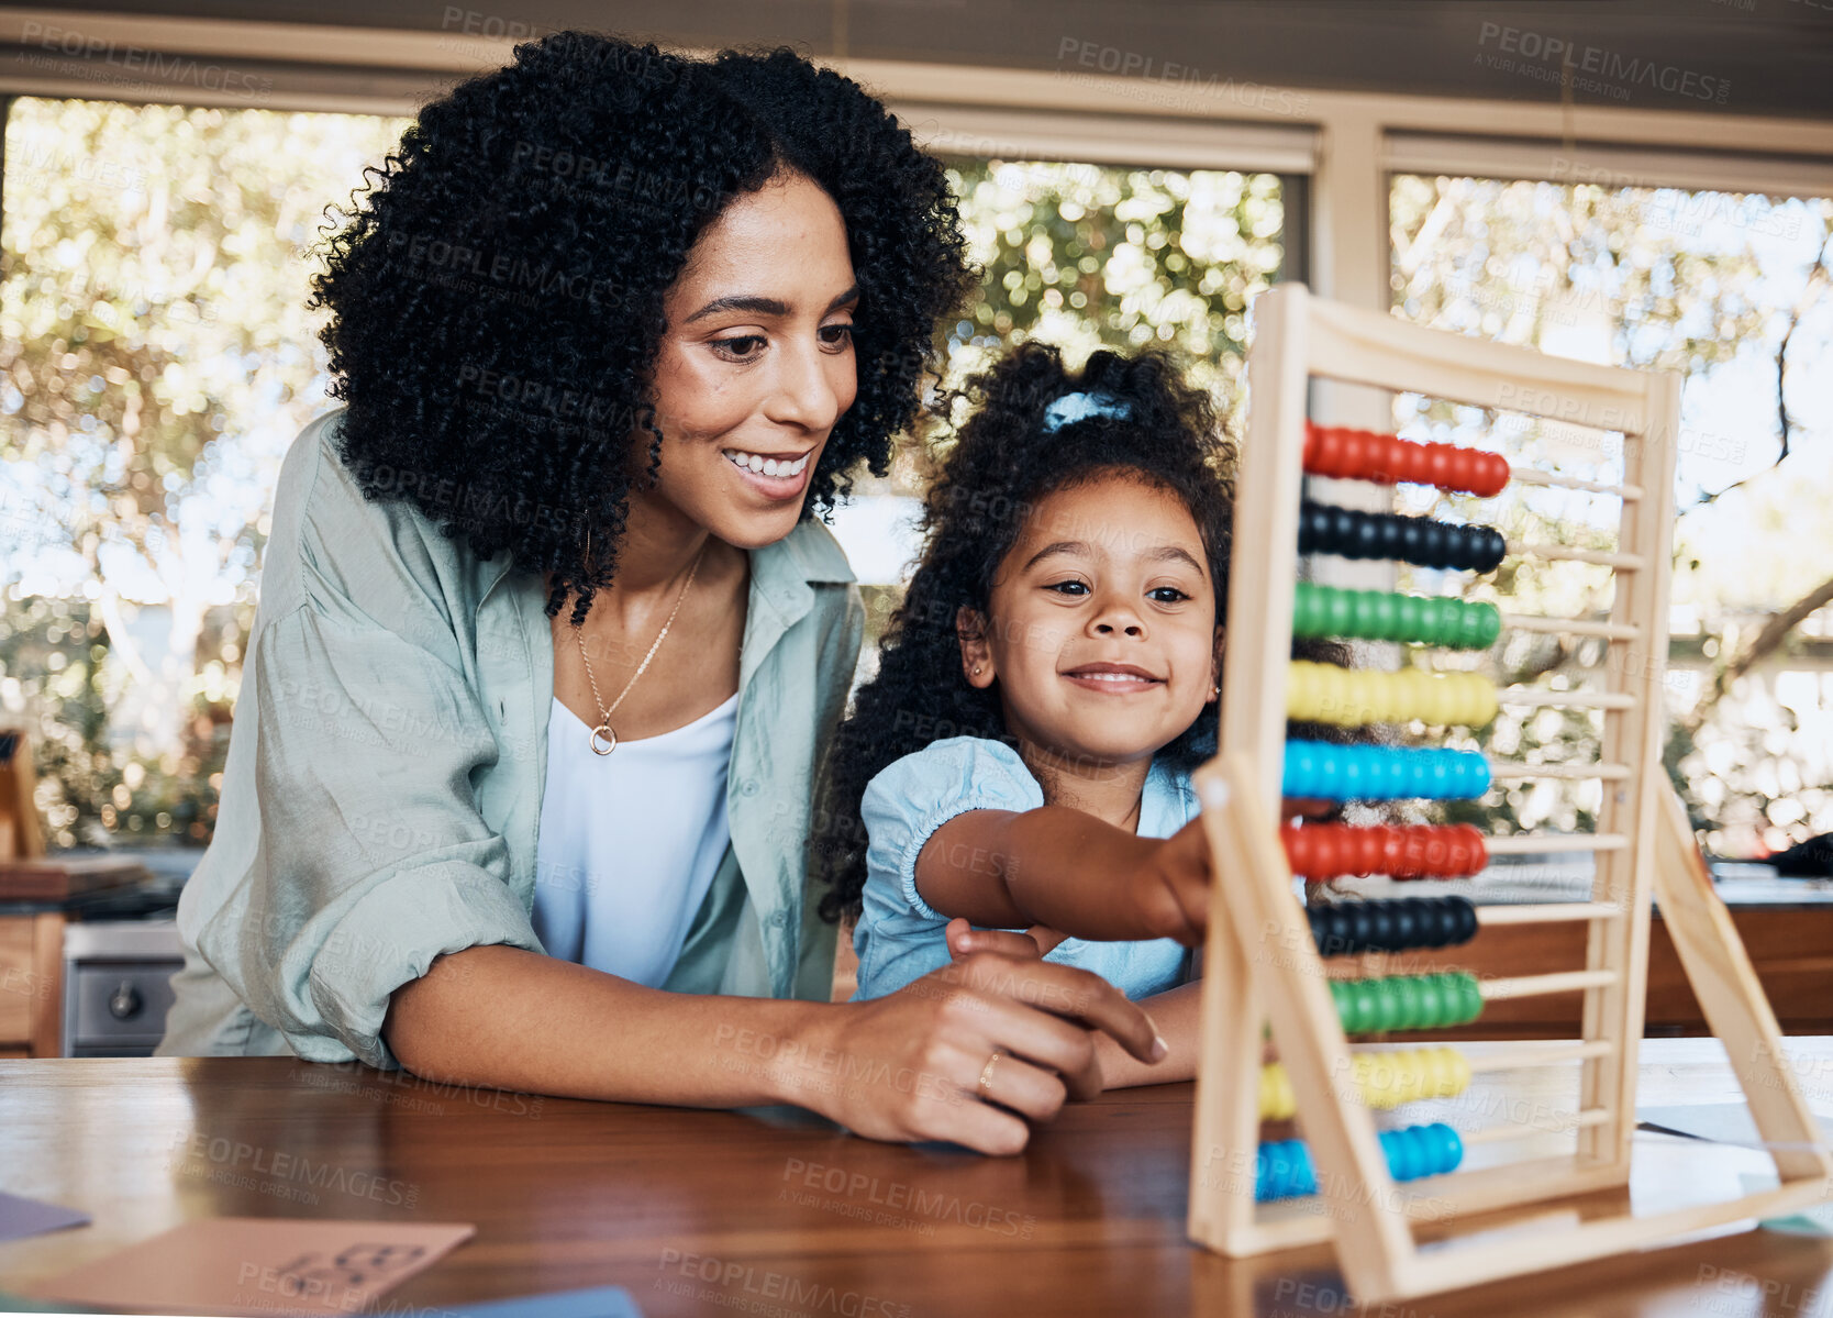
[[[40,1281],[29,1294],[99,1309],[348,1318],[475,1230],[466,1223],[207,1217]]]

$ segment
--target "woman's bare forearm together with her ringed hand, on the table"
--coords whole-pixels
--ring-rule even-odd
[[[401,1065],[436,1082],[796,1104],[871,1138],[982,1153],[1023,1149],[1021,1118],[1048,1120],[1070,1094],[1098,1093],[1102,1034],[1140,1060],[1164,1056],[1147,1016],[1098,975],[984,951],[869,1003],[803,1003],[669,994],[491,944],[401,984],[383,1023]],[[1003,1061],[986,1091],[993,1052]]]

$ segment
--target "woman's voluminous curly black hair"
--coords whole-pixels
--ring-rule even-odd
[[[548,616],[572,594],[583,621],[629,491],[660,466],[664,295],[708,224],[779,172],[840,207],[860,286],[858,396],[803,517],[854,464],[885,475],[935,326],[973,280],[942,165],[796,51],[693,60],[563,31],[425,106],[326,238],[312,306],[332,313],[343,458],[365,493],[550,574]]]

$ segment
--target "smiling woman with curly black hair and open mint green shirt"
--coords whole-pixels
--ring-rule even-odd
[[[966,288],[940,167],[790,51],[557,33],[427,106],[315,280],[345,409],[280,475],[161,1050],[986,1151],[1100,1087],[1094,1030],[1155,1058],[1036,961],[827,1001],[862,609],[812,513]]]

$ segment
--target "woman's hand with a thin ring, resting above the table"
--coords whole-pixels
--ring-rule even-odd
[[[1151,1017],[1100,975],[975,951],[896,994],[814,1016],[794,1056],[779,1058],[807,1078],[777,1082],[788,1102],[867,1138],[1017,1153],[1026,1122],[1102,1091],[1096,1032],[1140,1061],[1166,1054]]]

